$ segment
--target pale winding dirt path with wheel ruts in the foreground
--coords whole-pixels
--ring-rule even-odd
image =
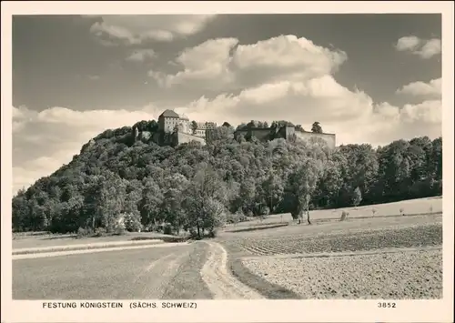
[[[232,276],[227,269],[227,251],[224,247],[213,241],[203,243],[208,245],[208,257],[200,274],[214,299],[263,298]]]

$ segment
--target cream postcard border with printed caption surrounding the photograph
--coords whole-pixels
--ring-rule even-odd
[[[188,300],[197,308],[43,308],[43,301],[12,300],[12,15],[212,13],[440,13],[443,88],[443,299]],[[5,322],[449,322],[453,319],[453,2],[26,2],[2,3],[2,321]],[[91,300],[93,301],[93,300]],[[105,300],[101,300],[105,301]],[[148,301],[148,300],[144,300]],[[153,301],[153,300],[151,300]],[[159,305],[161,300],[155,300]],[[48,302],[45,300],[45,302]],[[182,302],[182,300],[177,300]]]

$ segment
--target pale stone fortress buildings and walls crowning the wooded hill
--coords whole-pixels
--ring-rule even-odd
[[[206,144],[207,138],[213,129],[217,127],[214,122],[191,122],[185,115],[178,115],[173,110],[165,110],[158,116],[157,132],[155,134],[147,131],[135,131],[135,139],[148,138],[155,141],[158,145],[177,146],[178,144],[197,141],[202,145]],[[244,136],[246,139],[256,137],[260,141],[271,141],[278,138],[286,140],[309,140],[311,138],[320,138],[324,140],[330,148],[336,145],[335,134],[314,133],[304,131],[296,126],[269,126],[255,127],[244,126],[234,132],[234,136]]]

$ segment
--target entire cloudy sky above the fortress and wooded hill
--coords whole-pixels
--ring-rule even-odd
[[[319,121],[337,145],[441,136],[440,15],[15,15],[13,192],[108,128]]]

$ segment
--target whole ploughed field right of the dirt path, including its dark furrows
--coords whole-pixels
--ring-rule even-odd
[[[442,217],[225,233],[233,274],[266,298],[441,298]]]

